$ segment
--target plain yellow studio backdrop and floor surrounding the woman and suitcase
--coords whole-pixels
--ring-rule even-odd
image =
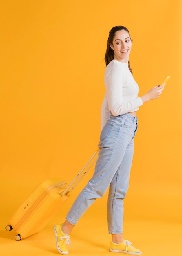
[[[4,227],[40,182],[57,176],[71,182],[96,150],[104,55],[115,25],[126,26],[133,38],[130,62],[140,95],[171,76],[160,98],[137,113],[124,237],[146,256],[182,253],[177,246],[182,238],[181,0],[1,0],[3,255],[57,253],[52,225],[64,220],[93,169],[39,234],[18,243]],[[88,248],[88,255],[109,254],[106,203],[107,195],[75,227],[72,255],[85,255]]]

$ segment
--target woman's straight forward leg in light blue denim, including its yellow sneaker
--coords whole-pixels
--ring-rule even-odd
[[[127,146],[121,165],[110,184],[108,195],[108,228],[109,233],[112,234],[110,251],[141,255],[142,252],[139,249],[136,249],[128,240],[123,239],[123,199],[126,197],[129,186],[132,158],[133,141]]]

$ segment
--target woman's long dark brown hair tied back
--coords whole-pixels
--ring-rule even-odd
[[[111,49],[110,44],[113,43],[113,39],[114,39],[114,36],[116,35],[116,32],[121,30],[125,30],[129,34],[128,29],[124,26],[115,26],[109,32],[109,37],[107,40],[107,49],[106,49],[105,58],[104,58],[106,66],[114,59],[114,51]],[[130,67],[130,61],[128,61],[128,68],[130,72],[133,73]]]

